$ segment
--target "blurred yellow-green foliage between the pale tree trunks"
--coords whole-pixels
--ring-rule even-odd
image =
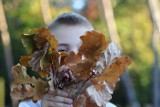
[[[29,28],[46,25],[43,22],[39,0],[3,0],[3,4],[11,37],[14,64],[17,64],[20,56],[25,54],[20,41],[21,34]],[[129,74],[138,101],[141,106],[146,106],[152,101],[152,68],[154,63],[151,46],[152,22],[148,4],[146,0],[113,0],[112,4],[124,54],[133,59]],[[56,8],[53,2],[50,2],[50,9],[53,19],[59,13],[71,11],[68,6]],[[106,25],[100,17],[89,20],[95,29],[106,33],[109,38]],[[3,45],[0,38],[0,76],[6,80],[6,104],[10,104],[6,72]],[[112,102],[119,107],[127,107],[127,97],[122,83],[117,85]]]

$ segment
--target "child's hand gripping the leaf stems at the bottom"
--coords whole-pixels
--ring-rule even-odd
[[[73,100],[68,97],[68,93],[57,90],[55,95],[47,93],[42,98],[42,107],[73,107]]]

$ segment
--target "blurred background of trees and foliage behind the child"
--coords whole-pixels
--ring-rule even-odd
[[[0,107],[11,107],[11,67],[26,53],[21,34],[70,11],[85,16],[133,60],[111,102],[160,107],[159,0],[0,0]]]

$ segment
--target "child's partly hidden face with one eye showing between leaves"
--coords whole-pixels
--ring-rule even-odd
[[[58,51],[77,52],[81,45],[80,36],[89,30],[91,29],[80,25],[60,25],[56,29],[51,30],[51,33],[55,36],[59,43]]]

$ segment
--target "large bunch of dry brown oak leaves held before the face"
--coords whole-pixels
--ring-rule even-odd
[[[28,55],[12,67],[10,94],[15,100],[36,102],[46,93],[62,89],[70,94],[74,107],[105,106],[119,76],[131,64],[128,56],[120,56],[118,47],[96,30],[80,37],[82,45],[77,53],[57,51],[58,42],[47,28],[31,29],[21,39]],[[27,68],[38,77],[29,76]]]

